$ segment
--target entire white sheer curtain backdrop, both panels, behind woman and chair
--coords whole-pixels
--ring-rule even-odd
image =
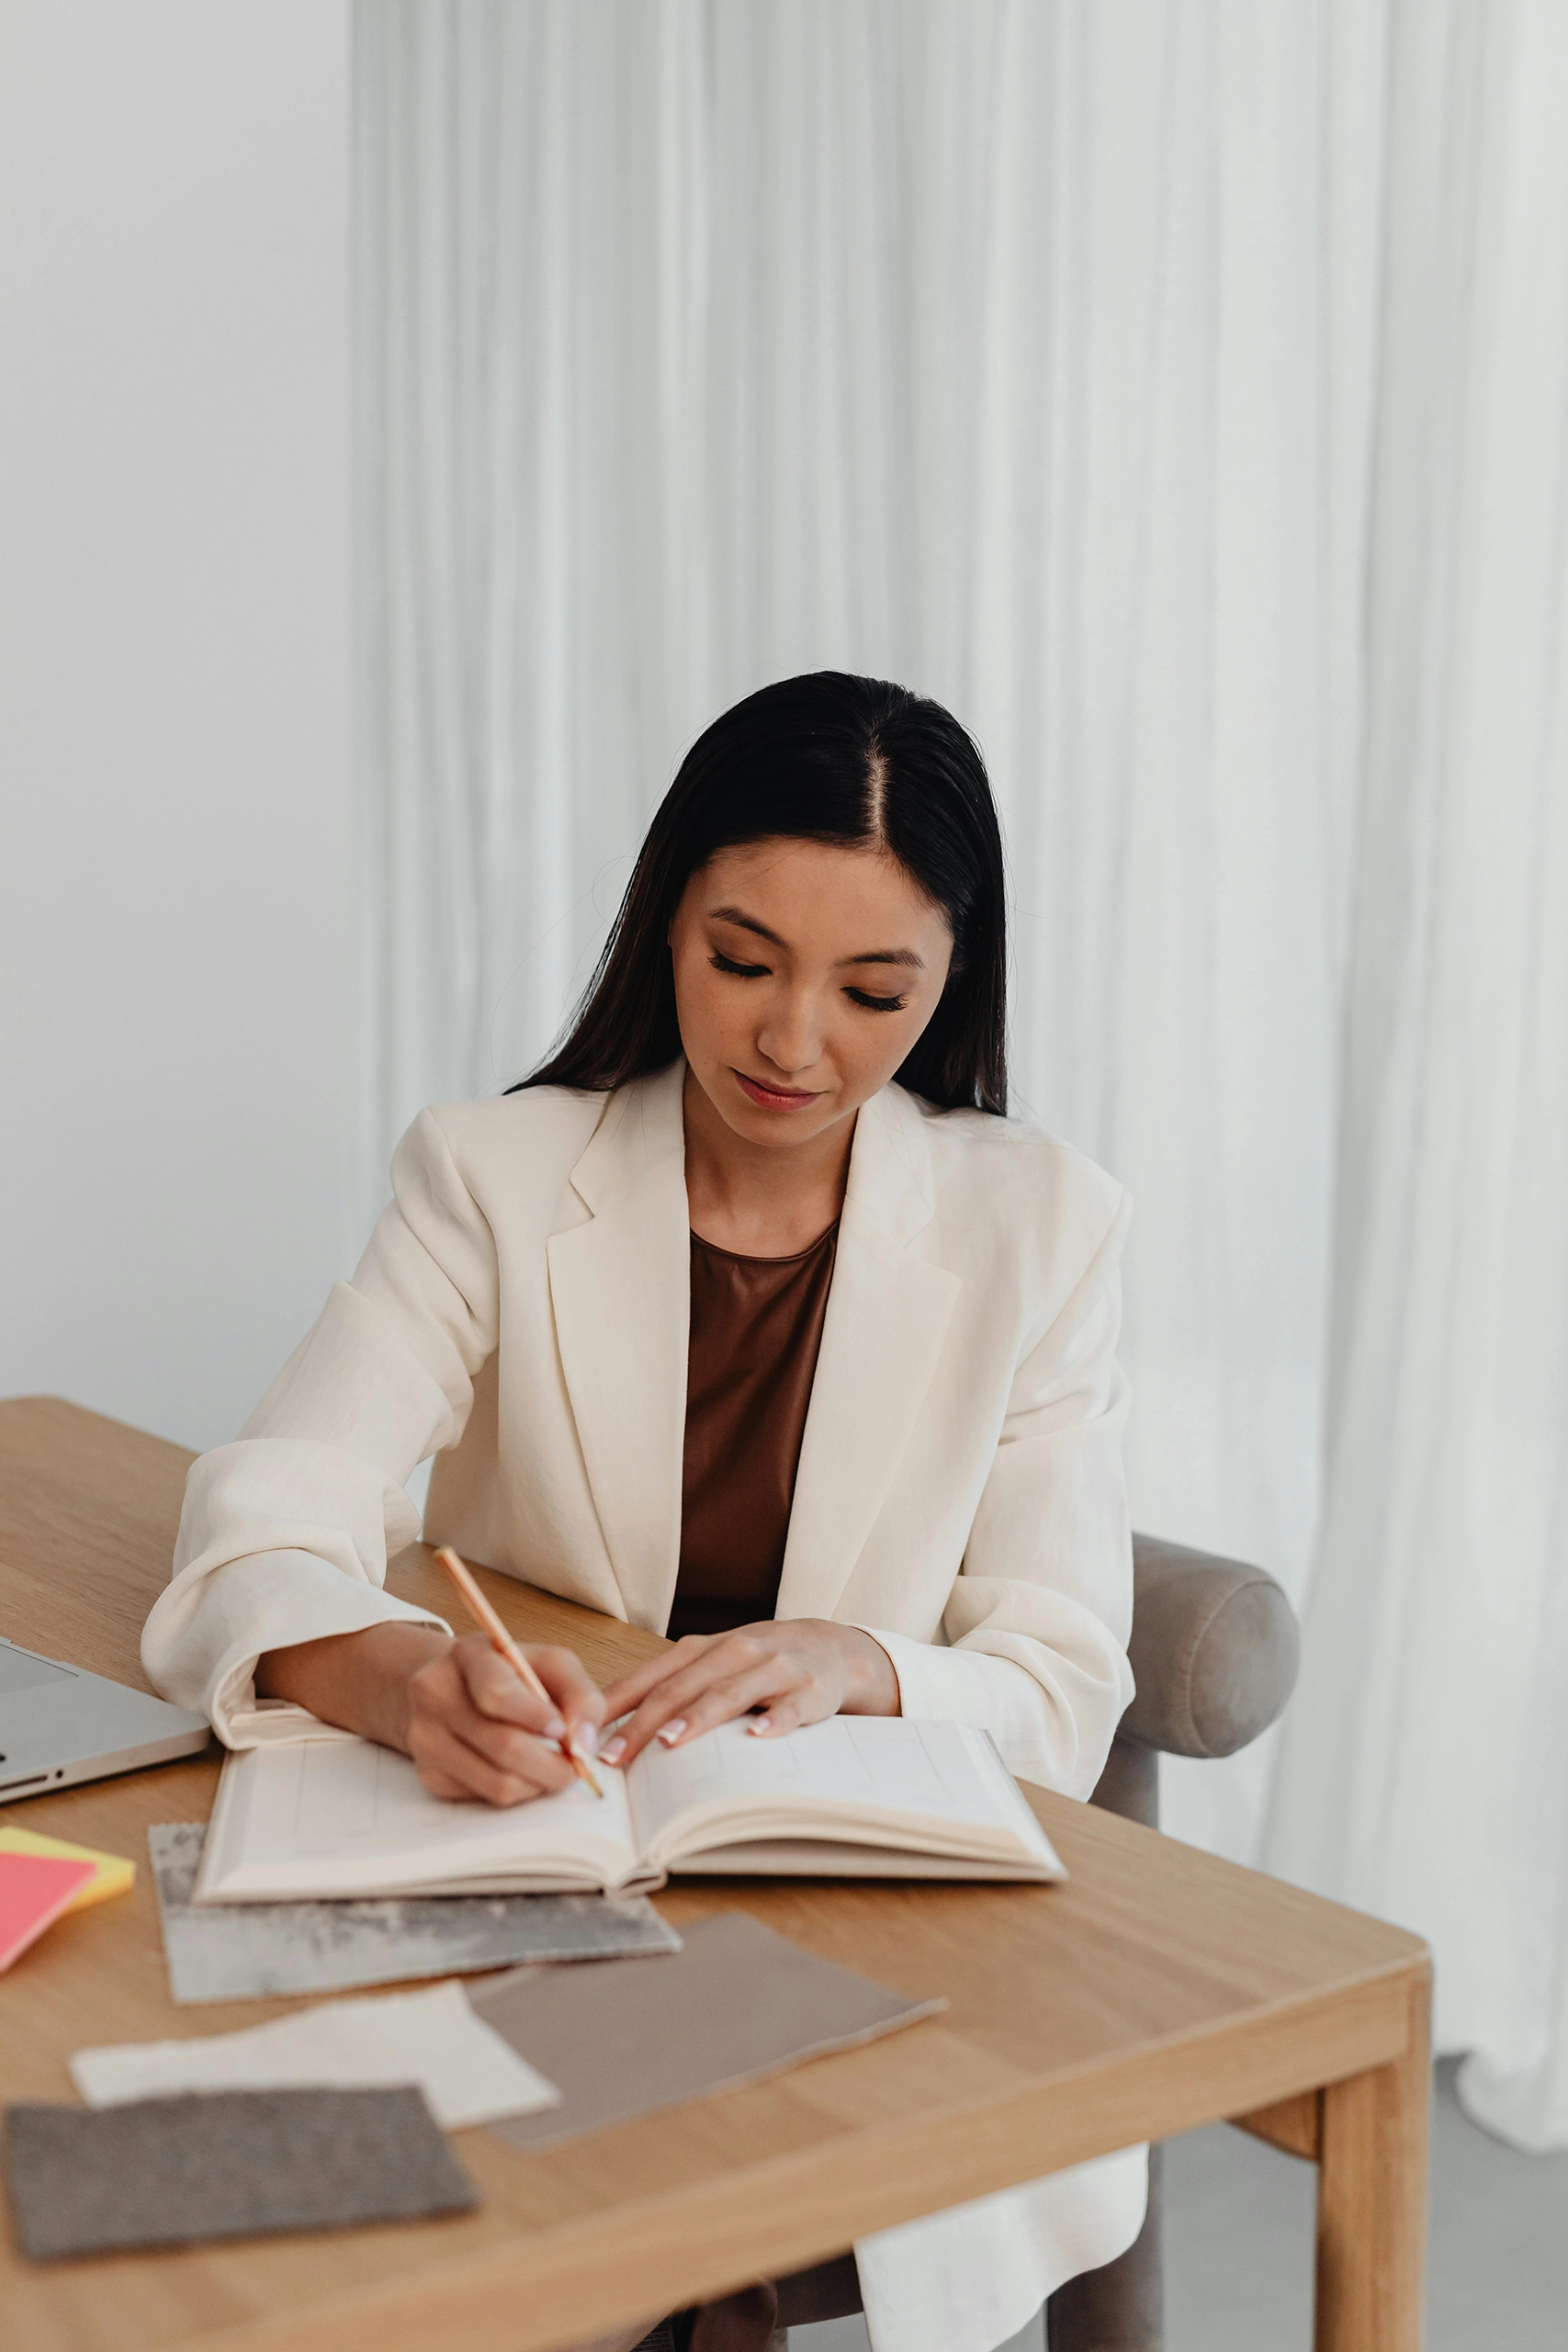
[[[362,0],[357,106],[367,1218],[708,717],[947,701],[1138,1522],[1319,1562],[1262,1851],[1568,2138],[1568,7]]]

